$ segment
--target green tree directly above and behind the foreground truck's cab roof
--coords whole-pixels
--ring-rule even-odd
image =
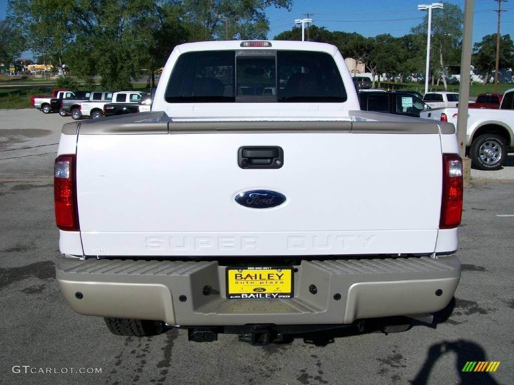
[[[193,41],[265,39],[269,23],[265,10],[290,10],[292,0],[184,0],[183,21]]]

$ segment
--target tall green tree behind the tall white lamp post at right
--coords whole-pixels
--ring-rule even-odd
[[[438,78],[443,80],[445,89],[447,86],[448,66],[458,65],[461,59],[460,43],[464,23],[464,13],[458,5],[444,3],[443,9],[432,10],[432,37],[430,47],[430,68]],[[411,29],[411,32],[418,35],[425,35],[428,30],[428,12],[424,21]],[[425,43],[425,50],[427,45]],[[426,52],[426,51],[425,51]],[[426,60],[423,61],[426,63]],[[432,78],[433,83],[434,78]]]

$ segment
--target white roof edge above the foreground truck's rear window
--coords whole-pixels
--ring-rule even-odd
[[[242,47],[243,42],[266,42],[271,44],[267,47]],[[300,41],[281,41],[281,40],[231,40],[231,41],[218,41],[218,42],[195,42],[180,44],[175,47],[179,53],[189,51],[216,51],[216,50],[305,50],[305,51],[319,51],[335,55],[338,52],[336,46],[327,43],[315,42],[300,42]]]

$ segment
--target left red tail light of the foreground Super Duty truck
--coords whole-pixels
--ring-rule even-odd
[[[56,224],[61,230],[78,231],[77,185],[75,155],[60,155],[53,168],[53,201]]]

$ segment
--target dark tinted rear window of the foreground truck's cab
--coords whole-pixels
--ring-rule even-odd
[[[347,96],[327,53],[227,50],[181,54],[165,98],[168,103],[338,103]]]

